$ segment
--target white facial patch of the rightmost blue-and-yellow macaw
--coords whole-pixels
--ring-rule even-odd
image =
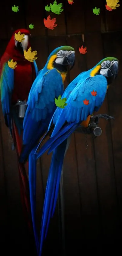
[[[112,61],[106,60],[106,61],[102,62],[100,74],[105,77],[108,77],[108,70],[110,70],[110,67],[112,65],[114,65],[114,63],[116,63],[116,62],[118,63],[118,61],[116,61],[116,60],[112,60]],[[112,73],[111,73],[111,75],[112,75]]]

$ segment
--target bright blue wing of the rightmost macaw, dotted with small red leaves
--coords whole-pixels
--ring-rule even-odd
[[[96,96],[92,96],[93,90],[97,92]],[[83,82],[79,81],[66,101],[68,105],[64,109],[56,109],[52,120],[55,127],[51,138],[42,146],[37,158],[49,148],[48,153],[54,150],[74,132],[82,121],[87,119],[88,115],[92,114],[96,108],[98,110],[104,101],[106,91],[107,80],[102,75],[89,77]],[[62,98],[64,98],[64,94]],[[89,100],[88,105],[84,104],[85,99]],[[59,115],[57,115],[58,111]]]

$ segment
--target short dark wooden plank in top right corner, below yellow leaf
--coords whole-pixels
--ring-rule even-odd
[[[113,11],[105,11],[106,15],[106,29],[107,31],[121,31],[122,30],[122,5]]]

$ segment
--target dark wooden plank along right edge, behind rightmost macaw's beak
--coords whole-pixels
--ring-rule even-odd
[[[117,199],[118,199],[118,230],[117,230],[117,238],[119,239],[120,234],[122,232],[122,172],[121,172],[121,164],[122,164],[122,137],[121,137],[121,111],[122,111],[122,33],[109,33],[103,34],[104,40],[104,54],[105,56],[115,56],[119,59],[119,73],[117,79],[114,81],[113,86],[111,86],[108,91],[108,99],[109,99],[109,112],[112,116],[114,116],[115,121],[111,122],[112,129],[112,146],[113,146],[113,165],[115,168],[115,180],[117,186]],[[111,209],[112,213],[112,209]]]

